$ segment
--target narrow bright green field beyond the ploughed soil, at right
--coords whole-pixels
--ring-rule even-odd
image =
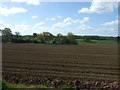
[[[96,44],[111,44],[117,43],[114,40],[91,40],[91,42],[84,42],[83,39],[77,39],[78,44],[85,44],[85,43],[96,43]]]

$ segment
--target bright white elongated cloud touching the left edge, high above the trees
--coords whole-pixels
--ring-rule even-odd
[[[3,16],[9,16],[12,14],[25,13],[25,12],[27,12],[27,10],[22,7],[12,7],[12,8],[0,7],[0,15],[3,15]]]

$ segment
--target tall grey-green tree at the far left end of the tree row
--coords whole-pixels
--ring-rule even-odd
[[[2,33],[2,41],[3,42],[10,42],[12,40],[12,31],[9,28],[4,28],[1,30]]]

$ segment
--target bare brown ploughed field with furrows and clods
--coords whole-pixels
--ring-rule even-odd
[[[2,77],[59,88],[119,88],[117,44],[3,44]]]

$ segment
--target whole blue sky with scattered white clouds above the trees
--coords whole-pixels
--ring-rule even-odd
[[[10,28],[21,35],[50,32],[54,35],[118,36],[118,3],[40,2],[8,0],[0,2],[0,29]]]

